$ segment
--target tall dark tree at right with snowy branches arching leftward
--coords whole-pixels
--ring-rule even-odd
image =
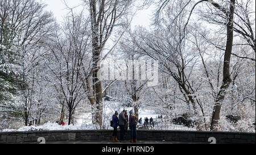
[[[148,3],[152,3],[153,1],[149,0],[146,1],[145,3],[148,5]],[[155,24],[160,24],[162,17],[162,11],[164,10],[164,8],[166,8],[168,6],[168,3],[175,3],[176,1],[172,1],[172,0],[167,0],[167,1],[159,1],[159,8],[155,13]],[[231,78],[230,78],[230,58],[232,55],[232,48],[233,48],[233,37],[234,37],[234,11],[235,11],[235,5],[236,5],[236,1],[235,0],[229,0],[229,1],[223,1],[223,2],[214,2],[212,0],[201,0],[201,1],[196,1],[195,3],[193,3],[192,1],[187,1],[185,3],[185,5],[183,5],[183,7],[181,8],[180,14],[178,14],[175,18],[174,21],[171,24],[175,24],[175,21],[177,19],[178,16],[182,15],[181,12],[186,11],[185,8],[188,6],[191,6],[191,11],[188,14],[188,19],[187,22],[184,25],[184,33],[185,33],[185,29],[188,25],[188,21],[191,19],[191,15],[193,13],[193,11],[195,10],[195,7],[197,5],[199,5],[200,3],[204,3],[207,2],[209,3],[214,9],[214,11],[208,12],[208,18],[212,19],[212,16],[210,15],[218,15],[218,16],[222,16],[225,19],[225,26],[226,26],[226,45],[225,45],[225,55],[224,55],[224,65],[223,65],[223,78],[222,78],[222,85],[220,88],[220,91],[217,94],[216,100],[215,100],[215,104],[213,107],[213,113],[212,113],[212,121],[210,124],[210,130],[212,131],[216,131],[217,128],[217,124],[218,124],[218,120],[220,119],[220,110],[221,110],[221,104],[222,101],[225,98],[225,94],[227,92],[227,89],[229,88],[229,85],[231,83]],[[193,3],[191,5],[191,3]],[[226,7],[228,6],[228,7]],[[204,10],[205,8],[203,8]],[[221,22],[223,24],[223,22]],[[181,41],[184,39],[185,36],[183,36],[181,38]]]

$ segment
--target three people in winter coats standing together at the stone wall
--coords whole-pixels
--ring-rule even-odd
[[[138,124],[138,118],[133,113],[133,110],[129,111],[129,117],[127,114],[127,110],[123,110],[122,113],[118,114],[118,111],[115,111],[115,114],[112,117],[113,121],[113,136],[112,141],[113,142],[119,142],[117,139],[117,128],[120,127],[120,142],[125,141],[125,134],[128,130],[128,126],[131,130],[131,143],[137,143],[137,124]]]

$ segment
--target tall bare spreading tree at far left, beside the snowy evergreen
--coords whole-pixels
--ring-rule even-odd
[[[12,66],[18,85],[19,101],[25,125],[32,106],[35,72],[32,70],[40,60],[42,40],[49,33],[53,21],[52,14],[44,11],[46,5],[35,0],[4,0],[1,4],[1,27],[10,26],[10,40],[15,41],[16,63]]]

